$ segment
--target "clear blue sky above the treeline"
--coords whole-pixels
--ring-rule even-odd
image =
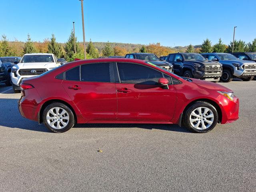
[[[0,0],[0,35],[8,40],[43,41],[54,33],[66,42],[76,24],[83,40],[79,0]],[[213,44],[222,38],[228,44],[236,28],[236,39],[256,38],[256,0],[84,0],[86,41],[164,46]]]

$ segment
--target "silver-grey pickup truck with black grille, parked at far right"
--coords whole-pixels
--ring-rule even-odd
[[[253,61],[239,60],[229,53],[202,53],[202,56],[222,64],[222,82],[230,82],[235,77],[250,81],[256,75],[256,63]]]

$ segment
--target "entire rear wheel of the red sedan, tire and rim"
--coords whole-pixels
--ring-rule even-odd
[[[44,109],[43,122],[52,132],[62,133],[74,126],[75,119],[72,110],[68,106],[55,102]]]

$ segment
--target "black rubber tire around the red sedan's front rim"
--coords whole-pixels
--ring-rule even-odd
[[[194,128],[191,124],[190,124],[190,114],[198,107],[206,107],[208,109],[210,109],[214,115],[214,119],[213,119],[213,122],[212,124],[206,128],[206,129],[202,129],[202,130],[199,130],[199,129],[196,129]],[[203,118],[203,117],[202,117]],[[198,119],[200,120],[200,119]],[[184,115],[183,115],[183,118],[182,118],[182,122],[183,122],[183,125],[188,128],[189,130],[191,130],[192,132],[196,132],[196,133],[206,133],[210,130],[212,130],[217,122],[218,122],[218,112],[216,110],[216,108],[214,106],[212,106],[212,104],[208,103],[208,102],[204,102],[204,101],[198,101],[198,102],[195,102],[194,104],[192,104],[185,112],[184,112]],[[198,122],[198,121],[197,121]],[[205,123],[204,123],[205,124]],[[202,122],[200,120],[200,125],[202,126]],[[208,125],[208,124],[207,124]],[[207,126],[206,125],[206,126]]]

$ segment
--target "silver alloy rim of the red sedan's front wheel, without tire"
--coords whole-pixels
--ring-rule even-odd
[[[189,121],[192,127],[198,130],[204,130],[212,125],[214,114],[207,107],[198,107],[191,112]]]

